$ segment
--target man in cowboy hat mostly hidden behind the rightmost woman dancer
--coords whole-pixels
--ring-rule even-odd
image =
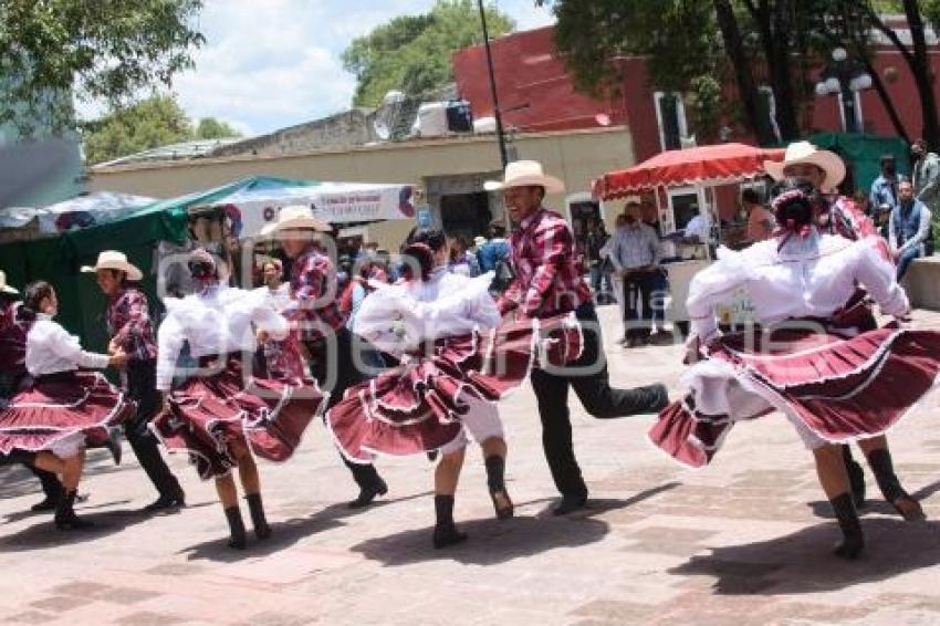
[[[764,169],[775,180],[786,178],[804,181],[813,190],[826,198],[825,202],[816,202],[816,225],[821,232],[837,234],[852,241],[866,240],[878,255],[892,262],[887,241],[878,232],[878,228],[853,198],[838,194],[838,185],[845,178],[845,163],[829,150],[821,150],[810,142],[796,142],[786,147],[783,161],[764,161]],[[864,289],[856,289],[843,304],[843,317],[853,316],[852,324],[859,331],[873,331],[878,327],[871,311],[870,300]],[[895,474],[886,437],[878,438],[876,453],[868,457],[868,465],[879,484],[900,484]],[[863,509],[865,500],[865,472],[861,466],[852,457],[852,448],[842,447],[845,466],[852,484],[855,505]],[[881,489],[885,494],[885,489]],[[887,489],[894,492],[895,489]],[[886,495],[887,497],[887,495]]]

